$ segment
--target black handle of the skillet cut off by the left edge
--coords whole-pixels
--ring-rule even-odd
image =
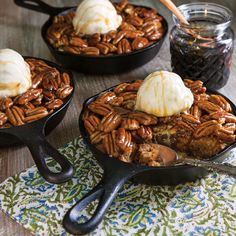
[[[13,135],[29,148],[39,173],[45,180],[55,184],[66,182],[73,176],[73,167],[66,157],[47,142],[42,130],[40,124],[39,127],[24,127],[24,132],[14,131]],[[46,164],[46,157],[54,159],[61,166],[61,171],[52,172]]]

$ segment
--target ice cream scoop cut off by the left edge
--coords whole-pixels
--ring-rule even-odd
[[[0,50],[0,97],[13,97],[31,86],[29,65],[12,49]]]

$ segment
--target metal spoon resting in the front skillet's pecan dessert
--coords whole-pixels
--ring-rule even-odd
[[[187,164],[207,169],[208,171],[217,171],[222,174],[227,174],[236,177],[236,166],[230,164],[221,164],[216,162],[204,161],[200,159],[180,157],[173,149],[156,144],[158,148],[159,159],[163,166],[171,166],[176,164]]]

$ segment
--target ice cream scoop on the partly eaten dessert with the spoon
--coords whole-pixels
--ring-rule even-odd
[[[180,76],[168,71],[151,73],[138,90],[135,109],[158,117],[188,110],[193,94]]]

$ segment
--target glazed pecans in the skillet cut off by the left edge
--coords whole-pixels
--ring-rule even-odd
[[[19,96],[0,98],[0,128],[23,125],[51,114],[73,91],[67,73],[60,73],[41,60],[26,62],[32,86]]]

